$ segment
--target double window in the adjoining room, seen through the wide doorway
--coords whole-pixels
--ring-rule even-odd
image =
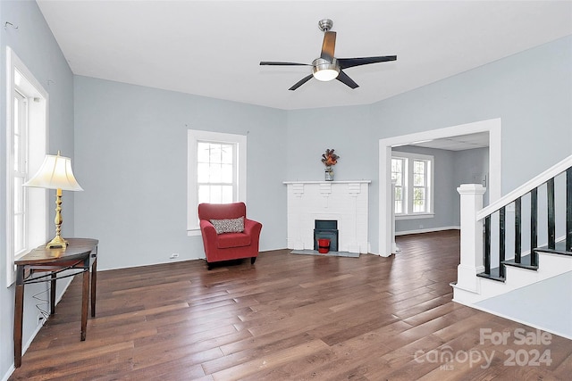
[[[397,217],[433,215],[433,156],[394,152],[391,180]]]

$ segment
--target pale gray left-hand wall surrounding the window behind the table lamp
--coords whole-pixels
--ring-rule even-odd
[[[0,15],[2,28],[0,28],[0,378],[3,378],[8,369],[13,366],[13,304],[14,286],[6,288],[6,195],[5,178],[6,168],[6,46],[10,46],[21,61],[31,71],[38,82],[49,94],[48,104],[48,152],[62,154],[71,157],[73,155],[73,76],[65,61],[59,46],[55,42],[46,21],[39,12],[38,5],[34,1],[0,1]],[[18,29],[7,26],[4,22],[9,21]],[[81,183],[82,176],[78,179]],[[63,236],[74,236],[74,207],[73,192],[64,192],[63,195]],[[48,226],[49,234],[55,235],[55,192],[49,192]],[[65,282],[59,282],[58,297],[62,293]],[[29,341],[30,336],[38,327],[38,309],[36,304],[46,308],[46,302],[38,302],[31,295],[42,292],[38,296],[47,299],[47,285],[26,286],[24,301],[24,325],[23,344]]]

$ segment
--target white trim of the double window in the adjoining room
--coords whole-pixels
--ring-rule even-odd
[[[404,192],[404,201],[407,203],[407,212],[406,213],[395,213],[395,219],[431,219],[434,217],[434,186],[435,186],[435,158],[432,155],[421,154],[421,153],[404,153],[400,151],[393,151],[391,153],[391,158],[400,158],[400,159],[407,159],[407,170],[406,175],[407,179],[407,186],[403,186],[405,189]],[[412,195],[412,184],[413,184],[413,161],[414,160],[424,160],[431,162],[431,169],[429,172],[429,181],[428,181],[428,192],[429,197],[427,197],[427,201],[429,202],[429,211],[418,211],[413,212],[413,195]]]

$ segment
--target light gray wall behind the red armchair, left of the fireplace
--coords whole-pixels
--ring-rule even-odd
[[[286,112],[118,82],[75,78],[76,234],[114,269],[204,258],[187,236],[187,131],[247,135],[248,217],[261,250],[286,246]]]

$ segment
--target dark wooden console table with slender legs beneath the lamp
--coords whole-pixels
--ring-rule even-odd
[[[86,339],[88,326],[89,274],[91,269],[91,317],[96,316],[97,289],[97,239],[67,238],[68,247],[46,249],[42,245],[27,253],[16,265],[16,292],[14,308],[14,367],[21,366],[21,335],[24,312],[24,285],[51,282],[50,315],[55,313],[55,281],[63,277],[73,277],[83,273],[81,292],[81,341]],[[68,273],[63,271],[71,270]],[[73,271],[75,270],[75,271]],[[38,272],[48,274],[32,277]]]

